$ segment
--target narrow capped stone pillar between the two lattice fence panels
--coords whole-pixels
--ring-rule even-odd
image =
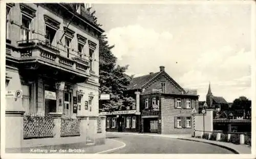
[[[55,139],[60,139],[60,129],[61,129],[61,116],[62,113],[50,112],[49,115],[53,117],[54,127],[53,134]]]

